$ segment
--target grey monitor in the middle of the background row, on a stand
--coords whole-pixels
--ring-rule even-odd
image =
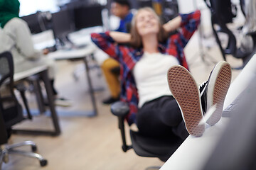
[[[52,13],[53,34],[55,39],[65,41],[69,33],[74,31],[72,11],[60,10]]]

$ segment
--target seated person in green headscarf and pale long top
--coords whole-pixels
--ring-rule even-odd
[[[18,0],[0,0],[0,52],[10,51],[14,57],[14,68],[21,62],[42,62],[48,64],[48,77],[53,89],[56,104],[69,106],[68,101],[57,98],[58,92],[55,90],[55,62],[43,55],[48,50],[38,51],[33,47],[31,31],[26,21],[18,17],[20,3]],[[61,104],[62,103],[62,104]]]

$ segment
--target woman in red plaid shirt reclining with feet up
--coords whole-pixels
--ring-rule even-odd
[[[92,41],[119,62],[122,84],[120,99],[127,102],[130,108],[127,121],[129,125],[136,123],[139,132],[144,135],[165,138],[174,134],[185,140],[188,132],[195,136],[201,136],[204,132],[205,124],[198,125],[203,118],[203,111],[195,81],[188,81],[188,86],[196,86],[197,93],[191,94],[190,89],[183,90],[187,93],[183,96],[195,96],[196,104],[192,105],[192,109],[187,112],[183,110],[186,108],[183,107],[183,103],[177,103],[178,100],[176,101],[171,94],[171,86],[169,89],[169,84],[176,83],[176,79],[180,81],[183,75],[177,75],[180,79],[176,78],[174,82],[166,78],[166,73],[172,66],[177,67],[181,64],[183,69],[188,69],[183,48],[196,31],[200,17],[200,11],[180,14],[162,26],[156,13],[147,7],[139,9],[134,15],[131,34],[114,31],[91,34]],[[180,28],[178,33],[169,35],[177,28]],[[208,86],[208,90],[203,94],[208,94],[209,90],[215,90],[214,80],[218,79],[220,72],[223,72],[220,68],[229,64],[224,62],[219,65],[220,67],[216,67],[213,72],[214,76],[211,76],[214,79],[206,81],[202,88],[206,89],[208,82],[213,86]],[[171,73],[173,71],[169,72]],[[223,96],[226,92],[224,89]],[[213,94],[208,94],[207,98],[213,98]],[[223,101],[224,99],[220,100],[219,106],[223,105]],[[189,105],[191,103],[188,101]],[[208,103],[208,105],[213,104]],[[210,106],[207,106],[206,110]],[[193,108],[198,112],[194,113]],[[192,117],[195,116],[196,120],[191,119],[190,116],[187,117],[187,113],[192,114]]]

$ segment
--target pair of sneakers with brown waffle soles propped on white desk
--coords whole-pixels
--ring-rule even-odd
[[[206,124],[215,125],[221,118],[223,103],[231,81],[231,69],[228,62],[218,62],[210,73],[210,77],[204,91],[206,111],[215,106],[215,111],[206,120],[203,119],[203,110],[198,86],[193,76],[182,66],[174,66],[169,69],[168,81],[171,94],[181,108],[181,115],[186,124],[188,133],[201,136]]]

